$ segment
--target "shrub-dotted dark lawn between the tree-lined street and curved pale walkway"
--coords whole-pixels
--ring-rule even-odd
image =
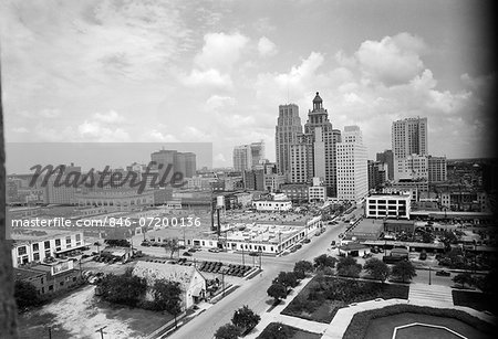
[[[407,299],[408,290],[407,285],[318,275],[304,286],[282,314],[329,324],[340,308],[351,303],[376,298]]]

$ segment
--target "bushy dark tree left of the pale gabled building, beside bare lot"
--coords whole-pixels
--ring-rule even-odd
[[[122,275],[105,275],[98,284],[102,297],[111,303],[135,307],[147,290],[147,282],[134,276],[132,272],[133,269],[127,269]]]

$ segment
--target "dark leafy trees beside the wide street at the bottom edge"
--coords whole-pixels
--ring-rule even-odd
[[[261,320],[261,317],[255,314],[247,305],[234,312],[231,322],[217,329],[216,339],[237,339],[250,332]]]

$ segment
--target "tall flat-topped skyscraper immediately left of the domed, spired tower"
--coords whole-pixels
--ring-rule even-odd
[[[276,159],[279,173],[290,173],[290,146],[298,142],[298,136],[301,134],[302,125],[298,105],[280,105],[274,128]]]

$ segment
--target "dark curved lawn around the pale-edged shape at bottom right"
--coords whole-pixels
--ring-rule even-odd
[[[396,326],[407,325],[412,322],[429,324],[445,326],[454,331],[467,337],[479,339],[491,339],[490,336],[486,336],[476,328],[453,318],[443,318],[422,314],[403,312],[398,315],[382,317],[372,319],[366,329],[366,336],[364,339],[384,339],[393,336],[394,328]],[[415,339],[415,338],[442,338],[442,339],[457,339],[458,337],[449,331],[429,328],[429,327],[408,327],[398,330],[396,338]]]

